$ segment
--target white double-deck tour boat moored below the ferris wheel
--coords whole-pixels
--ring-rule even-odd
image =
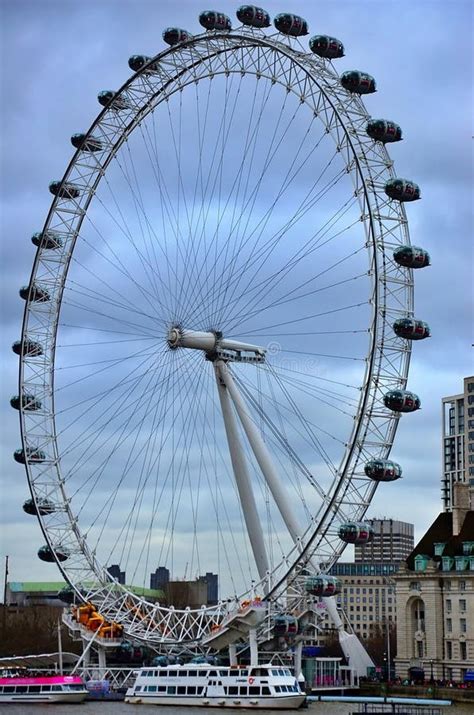
[[[270,663],[248,667],[188,663],[141,668],[125,702],[293,710],[305,697],[289,668]]]

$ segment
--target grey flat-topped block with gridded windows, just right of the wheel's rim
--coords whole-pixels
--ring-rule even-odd
[[[396,519],[368,519],[374,530],[373,541],[355,546],[356,563],[400,563],[415,545],[413,524]]]

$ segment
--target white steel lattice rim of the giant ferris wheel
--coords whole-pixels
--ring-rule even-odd
[[[236,598],[212,607],[179,609],[147,602],[111,579],[106,564],[81,530],[68,493],[56,426],[58,326],[83,222],[111,163],[160,105],[202,82],[234,75],[283,88],[295,106],[307,108],[334,142],[340,166],[352,180],[362,245],[368,256],[369,347],[352,432],[347,435],[330,487],[319,486],[311,470],[301,465],[318,494],[319,508],[302,527],[297,543],[260,583],[247,584]],[[377,485],[365,475],[364,464],[389,456],[399,419],[399,414],[384,406],[383,396],[390,389],[404,388],[407,381],[410,343],[394,334],[392,324],[399,317],[413,315],[413,276],[392,259],[396,247],[410,243],[407,219],[403,206],[384,193],[386,182],[395,174],[385,146],[366,133],[369,118],[360,97],[341,86],[332,63],[303,51],[297,41],[282,41],[279,34],[248,28],[205,32],[159,53],[127,80],[86,134],[85,141],[94,137],[100,149],[78,149],[65,171],[62,185],[73,184],[79,193],[54,198],[42,235],[56,245],[51,248],[43,242],[39,246],[30,280],[30,286],[39,285],[47,291],[49,300],[33,300],[30,295],[24,314],[23,346],[34,341],[40,344],[42,354],[28,354],[24,347],[20,359],[20,395],[32,394],[41,401],[39,410],[20,409],[22,442],[25,451],[34,448],[44,454],[42,461],[26,459],[26,471],[47,543],[56,555],[67,554],[66,560],[57,559],[59,568],[82,598],[93,601],[106,618],[122,623],[128,636],[157,646],[199,644],[242,599],[254,593],[284,609],[287,590],[301,568],[317,563],[322,571],[328,570],[345,547],[337,535],[338,526],[362,519],[370,504]],[[252,394],[239,379],[234,363],[227,365],[251,411]],[[246,369],[256,368],[249,365]],[[271,429],[270,423],[267,429]],[[54,508],[42,513],[44,503]]]

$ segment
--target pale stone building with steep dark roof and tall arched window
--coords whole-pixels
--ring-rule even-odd
[[[394,575],[396,674],[464,681],[474,670],[474,510],[469,485],[454,482],[441,512]]]

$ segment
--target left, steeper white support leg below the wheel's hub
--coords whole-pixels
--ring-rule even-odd
[[[222,415],[224,417],[225,431],[227,442],[229,445],[230,458],[232,468],[234,470],[235,481],[239,491],[240,503],[247,525],[247,532],[252,546],[255,563],[257,565],[258,575],[261,579],[267,576],[269,570],[268,557],[263,540],[263,531],[260,518],[255,503],[255,497],[252,491],[252,484],[245,462],[245,455],[240,444],[239,433],[237,431],[237,423],[232,412],[232,405],[229,400],[227,387],[221,379],[222,373],[225,370],[225,365],[220,360],[214,363],[217,381],[217,391],[221,403]]]

